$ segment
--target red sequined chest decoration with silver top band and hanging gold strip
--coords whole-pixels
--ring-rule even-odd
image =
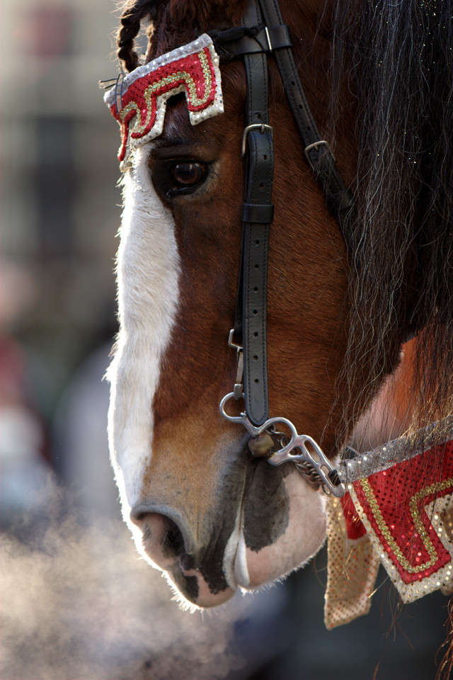
[[[453,416],[342,460],[330,497],[324,621],[369,611],[379,561],[403,602],[453,594]]]

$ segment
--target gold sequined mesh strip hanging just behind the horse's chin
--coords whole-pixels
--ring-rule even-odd
[[[368,536],[350,540],[340,501],[327,501],[326,628],[349,623],[369,612],[379,557]]]

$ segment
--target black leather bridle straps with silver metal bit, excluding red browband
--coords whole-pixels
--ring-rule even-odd
[[[234,392],[222,399],[220,410],[231,422],[241,422],[254,438],[261,441],[253,453],[268,455],[273,465],[292,460],[303,466],[311,481],[321,483],[335,495],[343,495],[343,485],[319,446],[308,436],[299,436],[284,418],[269,419],[267,371],[267,278],[270,224],[273,222],[273,129],[268,114],[268,66],[275,57],[282,83],[299,128],[304,156],[321,185],[328,210],[336,217],[348,246],[352,240],[355,201],[346,188],[331,149],[321,138],[299,79],[289,28],[282,22],[277,0],[251,0],[243,26],[211,31],[220,61],[243,57],[246,69],[246,106],[242,154],[245,158],[244,201],[242,209],[241,268],[236,299],[234,327],[230,346],[236,348],[238,368]],[[245,413],[229,416],[229,399],[245,401]],[[277,423],[285,424],[289,441],[275,432]],[[268,441],[268,447],[263,444]],[[306,444],[309,444],[307,447]],[[299,448],[302,453],[291,453]],[[315,455],[312,450],[314,449]]]

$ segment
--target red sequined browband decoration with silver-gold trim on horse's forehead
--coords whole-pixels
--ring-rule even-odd
[[[166,100],[179,92],[185,92],[192,125],[223,113],[219,57],[209,35],[135,69],[105,94],[121,128],[121,163],[132,149],[161,134]]]

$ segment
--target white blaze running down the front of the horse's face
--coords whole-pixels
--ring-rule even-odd
[[[152,404],[178,306],[175,225],[151,183],[149,148],[137,149],[124,178],[117,257],[120,332],[108,369],[110,455],[126,520],[151,458]]]

